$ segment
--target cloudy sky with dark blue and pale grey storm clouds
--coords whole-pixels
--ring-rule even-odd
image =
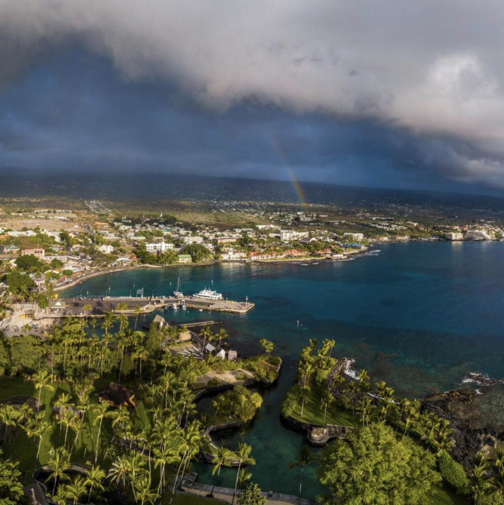
[[[0,0],[0,166],[504,189],[504,5]]]

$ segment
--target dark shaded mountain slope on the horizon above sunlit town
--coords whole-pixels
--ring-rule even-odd
[[[359,188],[299,183],[303,200],[311,204],[331,204],[347,209],[389,210],[418,214],[424,210],[446,216],[472,215],[504,217],[504,198],[429,191]],[[166,199],[193,201],[236,200],[297,203],[298,191],[290,182],[198,177],[172,174],[95,173],[40,175],[2,173],[0,197],[70,196],[73,198],[123,200]]]

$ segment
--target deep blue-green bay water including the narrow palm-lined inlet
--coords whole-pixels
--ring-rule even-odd
[[[261,413],[245,440],[254,448],[258,462],[250,470],[261,487],[295,494],[297,471],[288,472],[287,465],[303,435],[282,426],[279,406],[292,384],[297,354],[309,338],[335,339],[339,356],[354,357],[356,368],[368,369],[372,378],[402,394],[456,387],[469,371],[504,376],[504,243],[414,242],[380,249],[355,261],[307,267],[138,269],[90,279],[65,295],[124,295],[139,287],[149,294],[168,294],[180,276],[185,293],[213,286],[232,299],[249,296],[256,308],[244,316],[163,315],[177,323],[222,319],[242,354],[258,351],[262,337],[275,342],[275,352],[284,359],[281,378],[265,391]],[[500,414],[492,409],[496,419]],[[233,448],[239,432],[215,433],[214,439]],[[198,463],[195,470],[201,481],[214,482],[210,465]],[[223,469],[220,483],[233,481],[234,472]],[[304,489],[307,497],[323,491],[312,469]]]

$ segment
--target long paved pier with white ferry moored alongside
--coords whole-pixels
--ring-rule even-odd
[[[73,298],[59,298],[61,308],[56,314],[62,317],[88,317],[100,318],[107,312],[113,311],[117,314],[125,314],[126,316],[135,316],[135,308],[141,307],[140,314],[148,314],[159,309],[168,308],[172,310],[175,305],[178,310],[182,310],[185,305],[188,309],[207,310],[217,312],[230,312],[235,314],[246,314],[251,311],[255,305],[250,301],[231,301],[231,300],[204,300],[187,296],[184,298],[174,297],[135,297],[135,296],[107,296],[107,297],[84,297],[76,296]],[[126,304],[126,310],[118,310],[119,304]],[[90,305],[91,310],[84,310],[85,305]],[[55,312],[55,311],[53,311]]]

